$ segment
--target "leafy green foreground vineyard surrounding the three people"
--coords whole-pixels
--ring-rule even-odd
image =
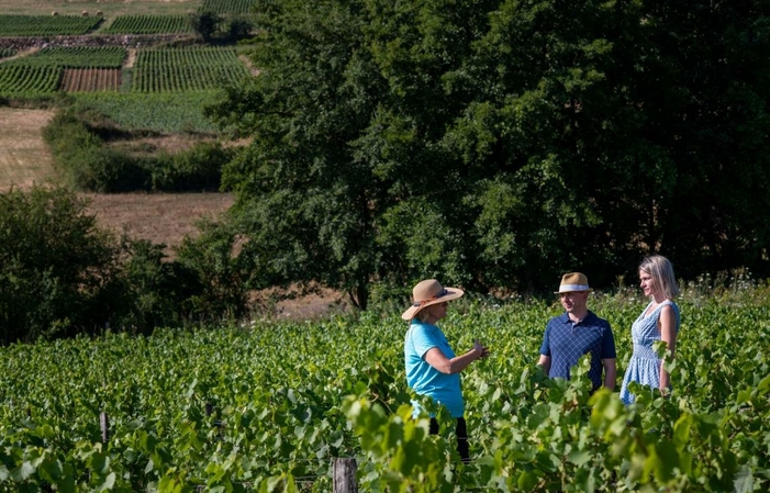
[[[534,366],[556,303],[458,302],[450,344],[493,351],[462,376],[468,464],[454,426],[431,437],[409,418],[398,309],[14,345],[0,351],[0,491],[326,492],[336,457],[371,492],[767,491],[768,294],[690,290],[672,395],[643,391],[628,408],[589,395],[585,361],[571,382]],[[614,327],[618,380],[644,303],[592,302]]]

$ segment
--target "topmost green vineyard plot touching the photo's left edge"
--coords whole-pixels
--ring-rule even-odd
[[[86,34],[102,21],[91,15],[0,14],[0,36],[60,36]]]

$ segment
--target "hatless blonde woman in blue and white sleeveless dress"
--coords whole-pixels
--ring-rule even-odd
[[[630,327],[634,354],[623,378],[621,400],[632,404],[636,396],[628,391],[630,382],[638,382],[668,393],[671,378],[663,369],[652,344],[662,340],[673,357],[679,334],[679,306],[673,299],[679,294],[671,262],[660,255],[645,258],[639,265],[639,287],[649,304]]]

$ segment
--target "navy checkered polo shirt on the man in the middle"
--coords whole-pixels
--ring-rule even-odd
[[[540,355],[550,357],[548,377],[569,380],[570,368],[587,352],[591,354],[589,378],[595,390],[602,386],[602,360],[615,358],[615,338],[610,323],[590,311],[577,324],[566,312],[548,321],[540,346]]]

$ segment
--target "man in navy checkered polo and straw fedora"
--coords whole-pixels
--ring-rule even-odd
[[[555,316],[546,325],[537,362],[550,378],[569,380],[570,368],[581,356],[591,354],[589,378],[595,391],[602,384],[615,389],[615,338],[604,318],[588,310],[588,296],[593,291],[588,278],[580,272],[563,274],[557,294],[565,313]],[[604,379],[602,379],[602,369]]]

